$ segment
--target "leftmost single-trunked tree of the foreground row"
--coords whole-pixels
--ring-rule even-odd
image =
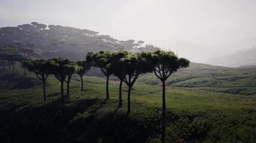
[[[47,59],[37,59],[35,61],[32,60],[24,60],[22,61],[22,66],[28,69],[29,71],[34,72],[37,75],[37,78],[42,81],[42,89],[43,89],[43,97],[46,101],[46,80],[47,77],[50,75],[50,68],[52,66],[52,61]]]

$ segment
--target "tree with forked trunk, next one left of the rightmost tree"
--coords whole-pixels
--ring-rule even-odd
[[[145,59],[149,52],[139,54],[127,54],[116,64],[120,69],[120,78],[128,86],[127,115],[131,112],[131,90],[140,74],[153,71],[150,60]]]

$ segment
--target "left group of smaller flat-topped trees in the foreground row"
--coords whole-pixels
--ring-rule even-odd
[[[37,78],[43,84],[43,97],[46,100],[46,80],[52,74],[60,82],[61,99],[64,101],[64,83],[67,84],[67,96],[69,96],[69,85],[73,74],[78,74],[81,77],[81,90],[83,90],[83,76],[88,69],[91,69],[91,64],[86,61],[70,61],[69,59],[53,58],[53,59],[29,59],[22,62],[24,68],[34,72]]]

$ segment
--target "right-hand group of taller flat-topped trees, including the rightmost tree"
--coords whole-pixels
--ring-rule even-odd
[[[106,76],[106,99],[109,99],[109,76],[114,74],[120,79],[119,84],[119,107],[122,107],[122,82],[127,84],[127,114],[131,111],[131,89],[140,74],[154,72],[160,79],[163,87],[163,114],[162,114],[162,142],[165,142],[165,81],[171,74],[180,68],[189,66],[190,61],[184,58],[178,58],[172,51],[162,51],[157,49],[154,52],[142,51],[137,54],[127,51],[100,51],[97,53],[88,53],[87,61],[93,62],[98,66]]]

